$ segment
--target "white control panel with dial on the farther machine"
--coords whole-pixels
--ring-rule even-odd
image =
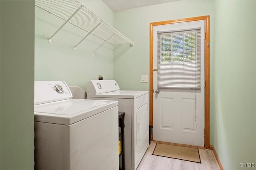
[[[115,80],[91,80],[87,83],[87,94],[100,94],[120,90]]]

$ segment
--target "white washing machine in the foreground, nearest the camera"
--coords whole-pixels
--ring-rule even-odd
[[[35,169],[118,170],[118,102],[72,99],[64,81],[35,81]]]

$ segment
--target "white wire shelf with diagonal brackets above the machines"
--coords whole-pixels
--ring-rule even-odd
[[[134,45],[134,42],[110,26],[110,24],[86,8],[86,6],[81,4],[78,0],[36,0],[36,7],[41,8],[65,21],[49,38],[49,43],[51,43],[52,38],[64,25],[70,23],[88,32],[88,34],[74,46],[75,50],[76,47],[90,34],[104,41],[93,51],[93,53],[106,42],[118,47],[124,44],[130,44],[131,46]]]

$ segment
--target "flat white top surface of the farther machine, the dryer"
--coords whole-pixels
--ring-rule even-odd
[[[87,94],[87,97],[135,99],[146,94],[148,94],[148,91],[117,90],[96,95]]]

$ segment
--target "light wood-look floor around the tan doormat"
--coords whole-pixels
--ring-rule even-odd
[[[212,150],[199,149],[201,164],[185,160],[152,155],[155,142],[151,142],[137,170],[220,170]]]

